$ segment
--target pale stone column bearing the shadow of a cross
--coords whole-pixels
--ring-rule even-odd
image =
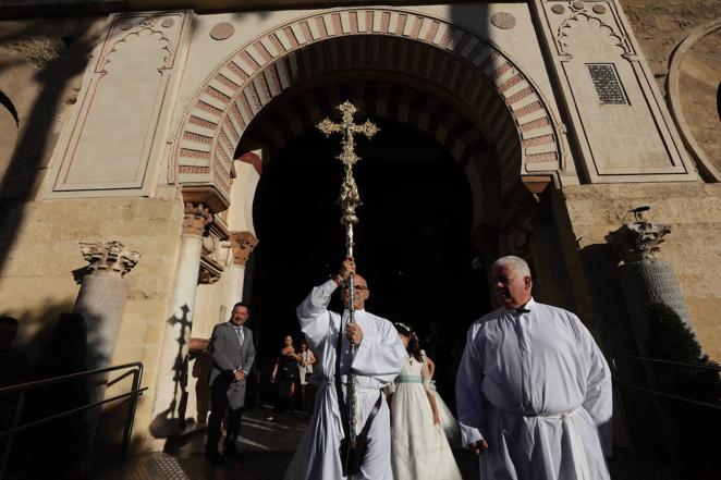
[[[204,204],[185,204],[175,285],[170,304],[171,317],[166,322],[158,362],[155,419],[150,427],[155,436],[167,436],[182,428],[184,422],[176,415],[182,402],[183,362],[187,356],[193,324],[203,235],[211,222],[212,214]]]

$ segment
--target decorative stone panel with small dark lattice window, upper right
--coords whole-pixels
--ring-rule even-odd
[[[587,182],[695,181],[618,0],[534,0]]]

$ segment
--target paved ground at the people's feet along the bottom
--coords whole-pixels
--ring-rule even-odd
[[[298,414],[292,419],[285,414],[278,422],[270,422],[266,420],[269,414],[269,408],[258,406],[244,416],[242,461],[225,460],[222,466],[207,463],[205,428],[198,428],[169,442],[164,452],[132,457],[97,480],[282,480],[308,416]],[[478,479],[477,457],[457,445],[454,454],[463,478]],[[614,452],[610,467],[614,480],[679,480],[667,466],[640,465],[627,451]]]

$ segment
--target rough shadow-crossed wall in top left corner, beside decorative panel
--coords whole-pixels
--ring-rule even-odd
[[[39,187],[102,23],[0,22],[0,198]]]

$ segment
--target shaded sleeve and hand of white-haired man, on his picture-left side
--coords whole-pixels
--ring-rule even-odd
[[[466,336],[466,347],[455,379],[455,401],[459,410],[459,426],[463,446],[485,440],[480,432],[484,426],[484,393],[480,390],[482,362],[474,345],[479,325],[473,325]]]

